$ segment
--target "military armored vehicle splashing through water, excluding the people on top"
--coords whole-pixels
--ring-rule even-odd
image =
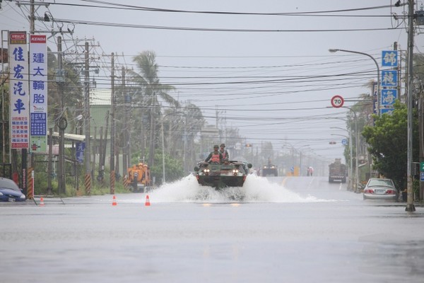
[[[202,161],[197,163],[194,171],[199,185],[222,190],[225,187],[242,187],[249,174],[249,168],[252,168],[252,164],[240,161],[230,161],[228,164]]]

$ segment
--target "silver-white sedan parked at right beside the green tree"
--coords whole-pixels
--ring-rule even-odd
[[[370,178],[363,192],[364,200],[398,200],[398,191],[393,180]]]

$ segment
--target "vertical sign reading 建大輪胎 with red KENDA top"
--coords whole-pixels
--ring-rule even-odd
[[[30,125],[33,151],[47,151],[47,40],[30,35]]]

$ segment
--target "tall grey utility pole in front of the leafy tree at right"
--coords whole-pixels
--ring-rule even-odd
[[[413,134],[413,116],[412,116],[412,83],[413,83],[413,0],[408,0],[408,154],[407,154],[407,188],[408,195],[406,203],[406,212],[415,212],[413,204],[413,180],[412,180],[412,134]]]

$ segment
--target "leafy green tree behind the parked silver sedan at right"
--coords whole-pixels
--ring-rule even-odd
[[[418,119],[413,112],[413,161],[418,162]],[[372,155],[373,168],[394,180],[403,190],[407,181],[408,110],[396,100],[394,111],[374,117],[375,125],[365,126],[362,132]]]

